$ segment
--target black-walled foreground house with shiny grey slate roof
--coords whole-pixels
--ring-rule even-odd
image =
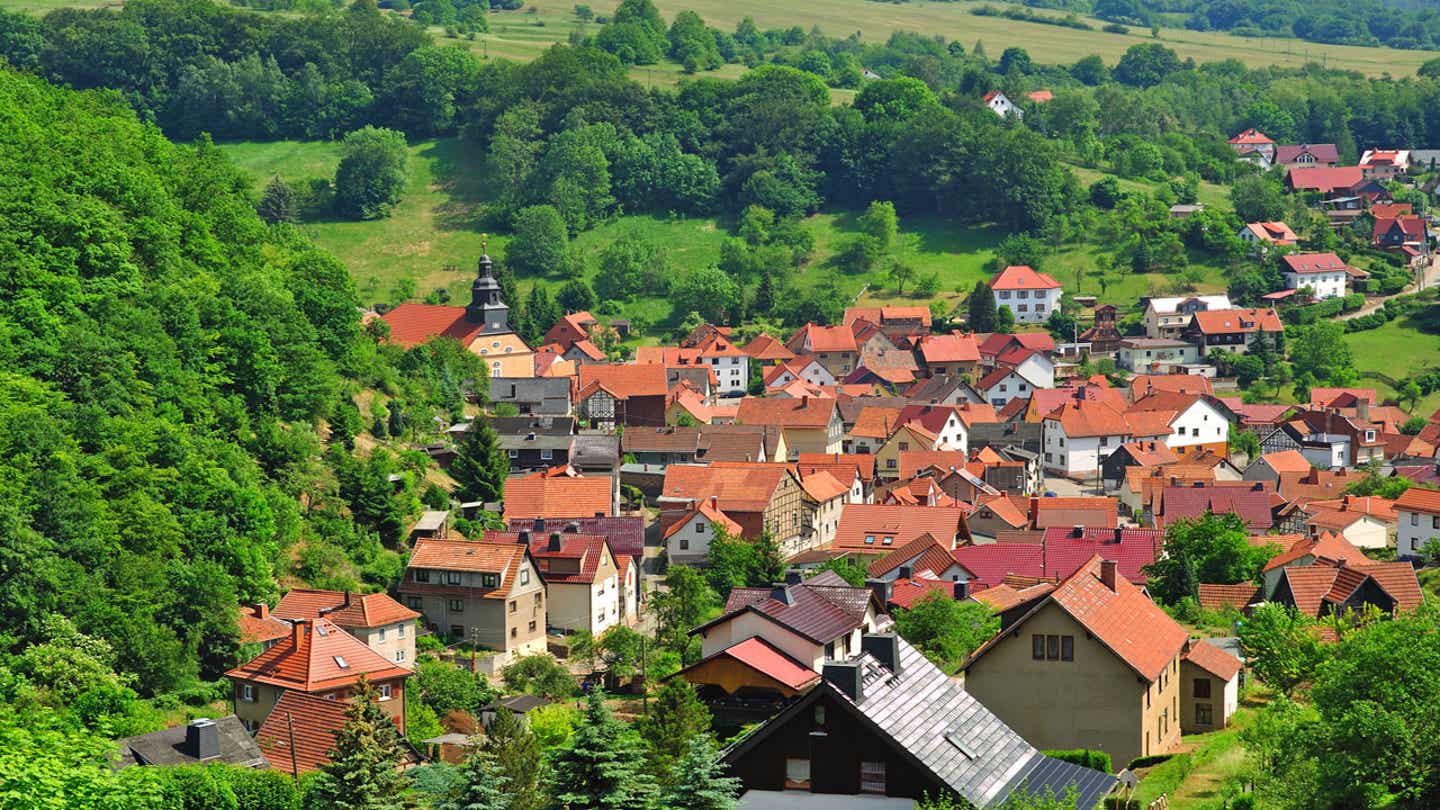
[[[819,685],[726,749],[723,761],[747,790],[747,807],[878,810],[953,794],[988,809],[1017,793],[1071,788],[1077,807],[1094,807],[1116,784],[1037,751],[894,634],[867,633],[850,656],[819,672]],[[831,798],[798,804],[796,791]]]

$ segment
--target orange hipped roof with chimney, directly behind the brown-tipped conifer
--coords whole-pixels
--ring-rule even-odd
[[[300,636],[298,641],[295,636]],[[225,673],[235,680],[301,692],[350,686],[361,675],[370,680],[389,680],[409,677],[412,672],[376,653],[328,618],[298,624],[292,636]]]

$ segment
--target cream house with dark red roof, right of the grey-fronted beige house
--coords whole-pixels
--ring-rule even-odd
[[[602,535],[582,535],[579,525],[572,525],[547,533],[485,532],[484,542],[530,548],[544,582],[549,628],[585,630],[599,637],[611,627],[629,624],[638,614],[635,561],[612,552]]]

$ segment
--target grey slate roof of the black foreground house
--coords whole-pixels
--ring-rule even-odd
[[[868,654],[858,657],[863,672],[858,703],[824,683],[811,692],[809,700],[799,700],[770,718],[727,751],[726,760],[733,762],[763,741],[769,731],[783,728],[791,718],[808,711],[821,693],[827,693],[890,739],[919,768],[981,809],[1002,804],[1017,790],[1038,796],[1047,790],[1063,794],[1071,784],[1079,794],[1077,806],[1093,807],[1115,787],[1116,778],[1109,774],[1045,757],[914,647],[903,638],[897,644],[899,673],[891,673]]]

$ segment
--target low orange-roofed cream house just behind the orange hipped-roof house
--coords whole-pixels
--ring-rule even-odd
[[[389,594],[292,588],[281,597],[274,615],[284,621],[328,618],[386,659],[415,667],[415,620],[420,614]]]

